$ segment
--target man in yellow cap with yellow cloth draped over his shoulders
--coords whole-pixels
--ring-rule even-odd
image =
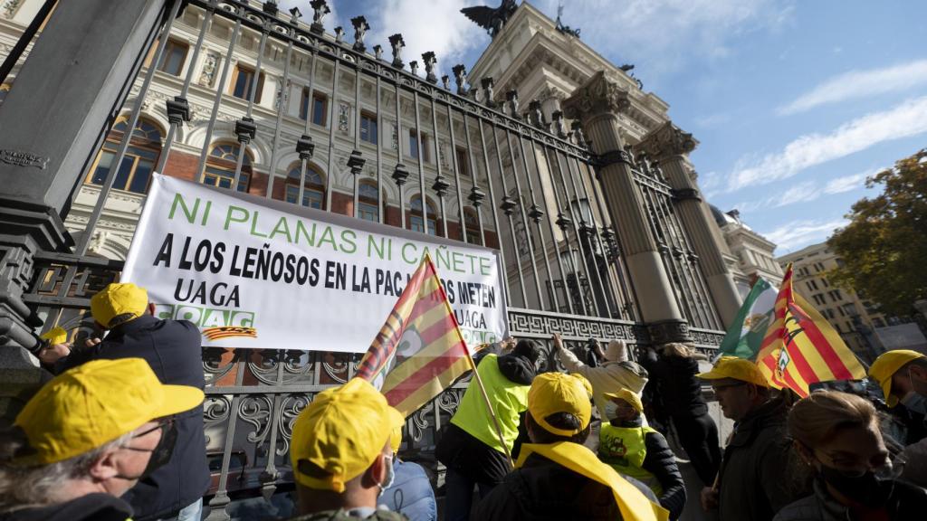
[[[480,521],[666,520],[655,504],[583,442],[592,388],[580,375],[538,375],[527,397],[528,437],[515,470],[476,506]]]

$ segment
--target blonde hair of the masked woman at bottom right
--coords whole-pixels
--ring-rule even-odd
[[[868,400],[855,394],[820,390],[795,402],[789,413],[789,434],[814,448],[844,428],[877,426],[878,419]]]

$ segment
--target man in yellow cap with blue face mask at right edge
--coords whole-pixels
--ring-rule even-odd
[[[908,427],[907,461],[901,477],[927,487],[927,357],[910,349],[895,349],[879,355],[869,376],[879,383],[885,404]]]

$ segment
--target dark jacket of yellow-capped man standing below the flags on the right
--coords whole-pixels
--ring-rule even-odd
[[[782,400],[771,400],[734,426],[718,474],[722,520],[770,521],[794,499],[785,488],[787,412]]]

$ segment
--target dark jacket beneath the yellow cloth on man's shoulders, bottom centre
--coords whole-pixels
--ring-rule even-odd
[[[612,489],[531,454],[476,505],[480,521],[621,519]]]

